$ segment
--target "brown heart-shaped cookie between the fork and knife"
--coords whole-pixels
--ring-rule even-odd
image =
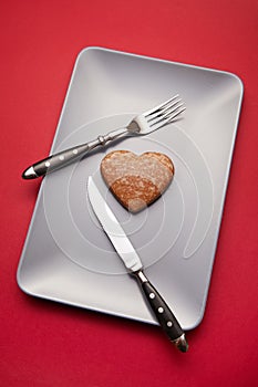
[[[131,212],[155,201],[171,184],[174,170],[169,157],[155,151],[137,156],[128,150],[113,150],[101,161],[107,187]]]

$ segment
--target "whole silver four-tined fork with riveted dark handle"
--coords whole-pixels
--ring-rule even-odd
[[[106,135],[100,135],[92,142],[62,150],[31,165],[23,171],[22,178],[35,179],[44,176],[85,156],[85,154],[95,147],[105,146],[106,143],[113,142],[114,139],[125,136],[126,134],[147,135],[165,125],[171,124],[185,111],[185,108],[184,103],[179,98],[178,94],[176,94],[161,105],[137,115],[126,127],[109,132]]]

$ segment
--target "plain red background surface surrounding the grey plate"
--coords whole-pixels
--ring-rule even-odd
[[[2,0],[0,4],[1,386],[255,385],[257,372],[258,2]],[[226,70],[245,97],[207,308],[180,354],[156,326],[23,294],[16,271],[40,180],[85,46]]]

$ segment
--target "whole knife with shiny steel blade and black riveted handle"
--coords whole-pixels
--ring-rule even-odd
[[[172,341],[180,352],[187,352],[188,344],[184,331],[169,306],[146,278],[136,250],[125,234],[115,215],[102,197],[91,176],[87,181],[87,194],[93,211],[95,212],[103,230],[110,238],[128,272],[137,279],[137,282],[140,283],[161,327],[166,333],[169,341]]]

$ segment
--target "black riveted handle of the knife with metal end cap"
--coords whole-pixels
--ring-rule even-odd
[[[133,274],[136,275],[148,304],[152,307],[163,331],[179,351],[187,352],[188,344],[185,339],[184,331],[182,330],[180,324],[171,311],[169,306],[148,281],[142,270],[134,272]]]

